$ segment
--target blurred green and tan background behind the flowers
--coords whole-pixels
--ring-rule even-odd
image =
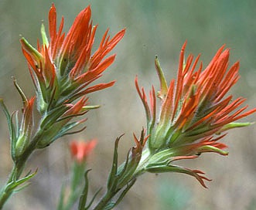
[[[159,56],[166,77],[176,76],[179,50],[188,41],[186,55],[202,53],[207,66],[220,46],[226,44],[231,63],[241,61],[241,80],[231,90],[235,97],[247,98],[256,105],[256,2],[254,0],[218,1],[88,1],[88,0],[0,0],[0,97],[9,110],[22,106],[12,85],[15,76],[27,96],[34,94],[32,81],[22,56],[19,35],[36,46],[40,39],[41,20],[48,25],[48,11],[54,2],[58,19],[64,16],[64,31],[75,16],[91,5],[94,24],[99,24],[95,46],[109,27],[111,36],[126,28],[125,38],[114,52],[114,65],[104,73],[101,82],[117,80],[115,86],[90,96],[90,104],[101,109],[87,114],[87,129],[64,137],[29,159],[26,171],[36,170],[28,188],[15,194],[5,209],[55,209],[63,182],[69,180],[70,140],[87,141],[96,137],[98,144],[89,158],[91,195],[104,185],[111,167],[114,139],[125,133],[120,144],[120,161],[125,160],[133,143],[132,133],[145,126],[145,113],[135,91],[134,79],[149,91],[158,78],[154,58]],[[255,121],[255,115],[246,120]],[[0,112],[0,185],[12,169],[9,134],[5,116]],[[230,154],[203,154],[193,161],[182,161],[188,168],[200,169],[213,181],[204,189],[195,178],[183,174],[145,174],[115,209],[256,209],[256,138],[255,125],[230,131],[224,138]],[[103,193],[103,191],[102,191]]]

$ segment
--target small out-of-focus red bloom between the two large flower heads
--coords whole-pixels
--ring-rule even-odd
[[[91,151],[94,150],[94,147],[97,144],[97,140],[91,140],[91,141],[72,141],[70,143],[70,152],[72,154],[72,157],[77,161],[78,163],[82,163],[86,161],[88,155]]]

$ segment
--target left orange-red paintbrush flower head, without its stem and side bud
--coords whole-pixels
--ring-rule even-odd
[[[115,55],[105,57],[125,35],[125,29],[112,39],[107,30],[100,46],[92,53],[97,25],[92,25],[90,16],[88,6],[77,15],[65,36],[62,32],[63,18],[59,29],[56,29],[56,8],[52,5],[49,10],[49,39],[42,24],[43,45],[38,41],[35,49],[26,39],[20,40],[36,87],[37,109],[43,116],[40,129],[43,130],[44,138],[38,142],[38,148],[48,146],[65,134],[73,134],[67,131],[82,124],[84,120],[68,122],[98,107],[87,106],[86,95],[114,85],[114,81],[90,84],[101,77],[104,70],[114,62]]]

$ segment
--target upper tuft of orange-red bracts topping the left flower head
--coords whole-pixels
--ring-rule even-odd
[[[97,25],[92,25],[90,17],[91,11],[88,6],[77,15],[65,36],[62,32],[63,18],[59,29],[56,28],[56,8],[52,5],[49,10],[49,40],[44,25],[41,29],[42,46],[38,42],[35,49],[26,39],[21,39],[22,52],[29,63],[38,96],[41,97],[39,100],[41,111],[46,109],[44,103],[51,103],[51,107],[63,102],[70,103],[87,93],[102,90],[114,84],[112,81],[89,86],[114,62],[115,55],[106,59],[105,56],[123,38],[125,29],[118,32],[112,39],[108,36],[107,30],[100,46],[92,53]]]

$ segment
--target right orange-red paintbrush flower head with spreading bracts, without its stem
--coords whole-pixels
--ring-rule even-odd
[[[135,86],[145,107],[147,117],[147,158],[143,158],[139,170],[152,173],[180,172],[193,175],[204,184],[203,171],[190,170],[172,165],[180,159],[197,158],[204,152],[215,152],[227,155],[223,149],[227,146],[219,140],[226,134],[224,131],[234,127],[244,127],[250,123],[234,123],[243,117],[254,113],[256,109],[245,111],[242,106],[245,99],[225,97],[231,86],[239,78],[239,62],[228,69],[229,49],[222,46],[211,60],[206,69],[200,63],[196,69],[200,56],[193,63],[193,56],[189,55],[184,62],[186,42],[179,56],[177,80],[172,80],[167,86],[166,78],[155,59],[155,68],[159,75],[160,91],[156,94],[161,101],[159,119],[156,120],[156,97],[152,86],[148,104],[145,90]],[[143,154],[142,154],[143,155]]]

